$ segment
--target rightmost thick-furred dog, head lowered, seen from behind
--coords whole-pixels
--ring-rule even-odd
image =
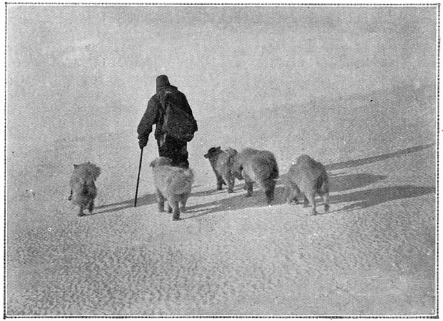
[[[286,200],[297,203],[304,194],[304,207],[311,203],[311,214],[317,214],[315,196],[319,194],[324,201],[324,211],[329,210],[329,180],[322,163],[308,155],[300,155],[293,163],[286,177]]]

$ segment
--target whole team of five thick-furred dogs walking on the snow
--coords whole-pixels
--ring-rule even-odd
[[[273,202],[279,169],[272,152],[252,148],[237,152],[233,148],[222,150],[221,147],[211,147],[204,157],[213,168],[217,190],[227,185],[228,193],[233,193],[237,178],[245,181],[246,197],[253,196],[253,183],[257,183],[264,191],[268,205]],[[172,166],[170,158],[166,157],[156,158],[150,163],[150,167],[159,211],[164,211],[167,200],[168,212],[173,212],[173,220],[179,220],[180,212],[186,210],[186,201],[191,194],[193,170]],[[95,180],[100,173],[100,168],[89,162],[74,165],[68,199],[79,207],[79,216],[84,215],[84,209],[88,209],[90,213],[94,209],[97,196]],[[329,210],[328,174],[324,165],[310,156],[303,154],[293,162],[284,183],[287,203],[297,204],[303,200],[304,207],[311,204],[311,215],[315,215],[315,196],[318,194],[324,201],[324,211]]]

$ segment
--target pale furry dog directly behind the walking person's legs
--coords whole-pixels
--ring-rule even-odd
[[[150,163],[150,167],[154,174],[159,211],[164,211],[166,198],[168,212],[173,211],[173,220],[179,220],[180,211],[186,210],[186,201],[190,196],[194,174],[192,169],[171,166],[171,162],[170,158],[159,157]]]

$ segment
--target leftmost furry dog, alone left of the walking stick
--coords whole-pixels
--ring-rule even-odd
[[[71,194],[68,200],[79,206],[79,216],[83,216],[83,209],[88,209],[90,213],[94,210],[94,200],[97,196],[95,180],[99,177],[101,169],[94,164],[83,163],[74,164],[74,171],[69,181]]]

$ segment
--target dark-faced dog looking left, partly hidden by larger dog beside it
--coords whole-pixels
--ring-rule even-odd
[[[217,179],[217,191],[223,188],[223,185],[228,185],[228,193],[233,193],[235,177],[230,172],[230,162],[232,156],[237,154],[237,150],[228,148],[223,151],[219,147],[210,147],[208,152],[204,154],[204,158],[208,158],[211,167]]]

